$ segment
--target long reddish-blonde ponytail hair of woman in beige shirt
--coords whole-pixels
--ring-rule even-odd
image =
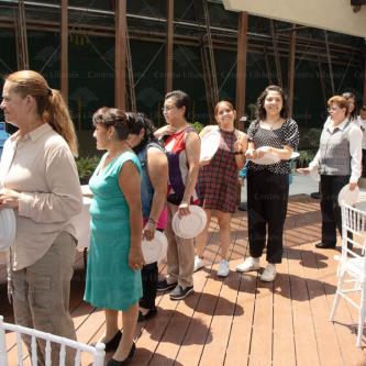
[[[56,89],[51,89],[44,77],[33,70],[21,70],[8,75],[5,81],[13,84],[11,91],[35,99],[37,113],[67,142],[74,156],[78,155],[78,143],[68,108]]]

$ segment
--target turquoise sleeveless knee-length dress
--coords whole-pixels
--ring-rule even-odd
[[[93,199],[84,299],[98,308],[127,310],[142,297],[142,282],[141,271],[129,266],[130,210],[119,186],[119,173],[127,160],[138,173],[141,166],[134,153],[125,152],[101,170],[106,156],[89,181]]]

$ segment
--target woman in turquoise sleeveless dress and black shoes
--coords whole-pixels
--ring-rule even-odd
[[[141,166],[126,144],[129,121],[124,112],[101,108],[93,118],[98,149],[107,149],[89,181],[91,243],[85,300],[104,309],[106,334],[100,342],[115,351],[108,366],[124,365],[135,350],[133,334],[142,297]],[[123,337],[118,326],[122,311]]]

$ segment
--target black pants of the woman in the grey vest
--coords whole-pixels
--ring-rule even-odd
[[[320,210],[322,214],[322,243],[335,245],[336,228],[342,235],[342,215],[339,204],[339,193],[348,181],[350,176],[321,176]]]

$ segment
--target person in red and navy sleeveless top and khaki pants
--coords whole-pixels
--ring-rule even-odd
[[[196,191],[199,171],[200,138],[187,122],[189,97],[180,90],[165,96],[163,113],[167,125],[156,131],[163,138],[169,165],[167,193],[168,237],[167,277],[157,285],[158,291],[171,290],[171,300],[186,298],[193,291],[195,242],[176,235],[171,220],[176,212],[180,217],[190,214],[189,204],[198,203]]]

